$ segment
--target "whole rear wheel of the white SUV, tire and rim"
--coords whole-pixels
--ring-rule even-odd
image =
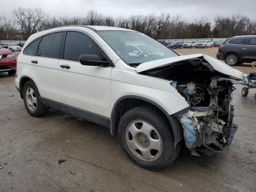
[[[32,81],[27,81],[23,87],[23,101],[30,115],[40,117],[46,114],[47,107],[42,103],[39,91]]]

